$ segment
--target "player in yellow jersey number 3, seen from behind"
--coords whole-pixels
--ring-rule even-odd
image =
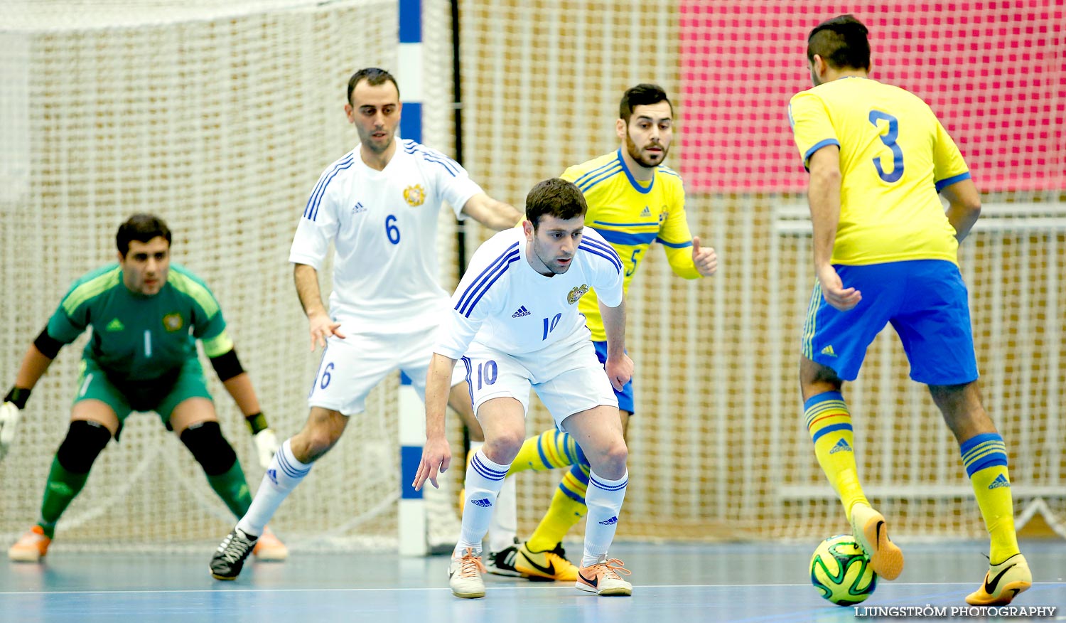
[[[930,388],[958,441],[991,538],[984,582],[966,601],[1011,603],[1032,586],[1018,550],[1003,437],[981,405],[958,243],[981,213],[981,197],[955,143],[915,95],[869,78],[862,23],[841,15],[807,39],[814,87],[792,97],[789,121],[810,171],[808,199],[818,283],[803,332],[800,383],[819,464],[855,540],[885,579],[903,553],[859,485],[852,417],[841,387],[867,347],[891,323],[910,378]],[[937,193],[948,199],[944,211]]]

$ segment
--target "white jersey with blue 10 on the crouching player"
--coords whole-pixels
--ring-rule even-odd
[[[578,301],[591,288],[609,307],[621,304],[621,259],[603,238],[585,227],[570,268],[547,276],[533,270],[520,228],[500,231],[473,254],[452,295],[434,352],[457,360],[471,341],[516,355],[553,344],[587,340]]]

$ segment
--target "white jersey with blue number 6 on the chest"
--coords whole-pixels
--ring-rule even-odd
[[[437,282],[440,205],[458,215],[480,192],[458,163],[415,141],[399,141],[384,171],[367,166],[356,145],[319,178],[289,261],[321,271],[332,241],[334,319],[373,333],[434,326],[448,301]]]

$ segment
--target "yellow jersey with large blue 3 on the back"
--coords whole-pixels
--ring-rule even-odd
[[[789,123],[804,166],[822,147],[840,147],[834,263],[957,263],[955,229],[937,193],[970,173],[928,105],[898,86],[841,78],[792,96]]]

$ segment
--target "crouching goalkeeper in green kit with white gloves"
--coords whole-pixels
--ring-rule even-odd
[[[118,227],[118,263],[75,282],[48,325],[22,358],[15,386],[0,405],[0,458],[15,436],[20,411],[63,345],[92,326],[82,352],[70,428],[48,473],[37,524],[9,549],[12,560],[38,561],[48,550],[63,511],[88,478],[93,461],[133,411],[155,411],[203,466],[219,497],[238,517],[252,504],[233,448],[222,435],[196,340],[219,379],[247,418],[265,468],[277,437],[259,409],[252,380],[241,368],[214,294],[198,277],[171,265],[171,230],[150,214]],[[282,560],[285,545],[259,540],[260,560]]]

